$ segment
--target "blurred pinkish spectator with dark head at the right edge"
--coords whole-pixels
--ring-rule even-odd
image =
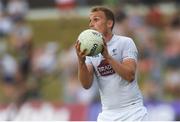
[[[165,31],[164,58],[166,68],[180,68],[180,17],[176,16]]]

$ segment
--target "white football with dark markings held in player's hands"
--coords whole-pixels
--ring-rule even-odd
[[[103,38],[102,34],[96,30],[87,29],[82,31],[78,37],[80,50],[86,49],[87,56],[95,56],[102,52],[103,49]]]

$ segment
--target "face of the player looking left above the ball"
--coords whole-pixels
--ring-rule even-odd
[[[104,12],[96,11],[90,14],[89,28],[97,30],[103,34],[107,33],[109,27]]]

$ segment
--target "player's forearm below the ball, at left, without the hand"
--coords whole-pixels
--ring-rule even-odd
[[[89,89],[92,85],[93,75],[91,75],[85,63],[79,62],[78,68],[78,77],[82,86]]]

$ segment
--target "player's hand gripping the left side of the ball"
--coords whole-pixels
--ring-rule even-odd
[[[84,63],[85,62],[85,59],[86,59],[86,50],[84,50],[83,52],[81,52],[80,50],[80,45],[81,43],[79,41],[76,41],[75,43],[75,49],[76,49],[76,54],[78,56],[78,60],[81,62],[81,63]]]

